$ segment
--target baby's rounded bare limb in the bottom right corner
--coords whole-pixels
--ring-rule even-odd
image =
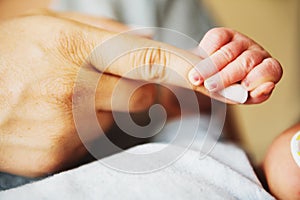
[[[263,169],[270,192],[278,199],[300,199],[300,167],[291,152],[291,140],[299,131],[300,123],[278,136],[264,160]]]

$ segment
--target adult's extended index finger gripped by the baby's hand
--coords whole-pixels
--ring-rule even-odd
[[[161,42],[94,27],[81,27],[77,31],[88,35],[85,37],[85,47],[78,51],[83,55],[77,57],[87,57],[87,62],[101,73],[175,85],[211,96],[206,88],[194,86],[187,79],[189,71],[201,61],[190,52]],[[73,43],[76,45],[76,41]],[[213,98],[228,102],[219,95]]]

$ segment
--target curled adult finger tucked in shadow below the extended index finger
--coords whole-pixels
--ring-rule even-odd
[[[156,99],[156,86],[118,76],[102,74],[96,90],[97,110],[139,112]]]

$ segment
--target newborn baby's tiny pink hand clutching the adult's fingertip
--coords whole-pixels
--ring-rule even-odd
[[[259,44],[228,28],[207,32],[198,46],[204,59],[189,73],[190,81],[217,92],[234,83],[249,92],[246,103],[261,103],[269,98],[282,76],[280,63]]]

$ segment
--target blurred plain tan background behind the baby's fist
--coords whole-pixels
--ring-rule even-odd
[[[218,25],[253,38],[283,66],[283,79],[269,101],[261,105],[230,107],[243,146],[259,163],[272,140],[300,121],[300,1],[203,2]]]

